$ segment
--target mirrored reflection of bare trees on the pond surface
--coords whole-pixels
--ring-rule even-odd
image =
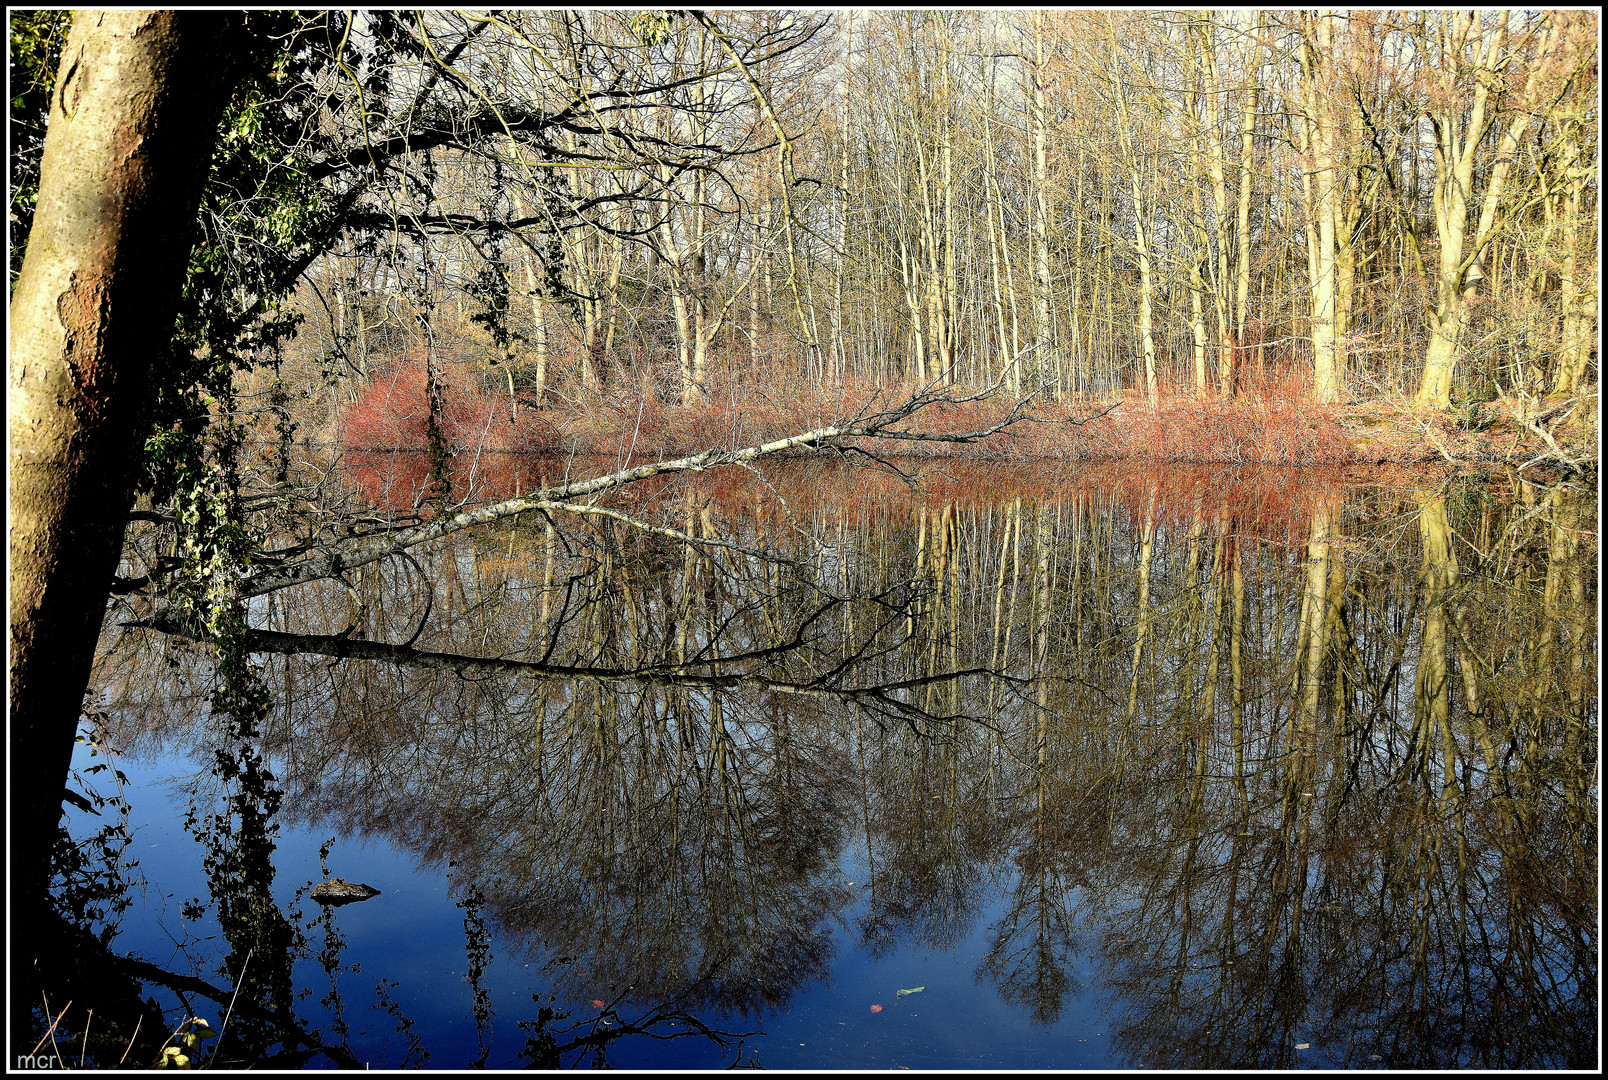
[[[662,498],[716,543],[535,519],[264,604],[286,810],[452,860],[571,996],[762,1012],[851,895],[947,947],[1003,879],[979,979],[1052,1022],[1085,958],[1135,1064],[1595,1056],[1589,493]]]

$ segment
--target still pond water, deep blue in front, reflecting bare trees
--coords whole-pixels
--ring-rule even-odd
[[[1595,492],[925,468],[259,598],[260,723],[114,612],[79,902],[259,1067],[1595,1066]]]

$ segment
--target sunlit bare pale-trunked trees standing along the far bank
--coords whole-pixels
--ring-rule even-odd
[[[347,399],[413,357],[529,405],[1595,379],[1595,13],[722,18],[420,16],[494,112],[669,88],[629,122],[416,151],[315,264],[297,352]]]

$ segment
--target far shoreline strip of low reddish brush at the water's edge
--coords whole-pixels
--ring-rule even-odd
[[[778,408],[773,399],[757,394],[699,407],[621,400],[617,395],[584,407],[542,410],[510,408],[507,400],[476,405],[447,413],[447,444],[453,456],[531,453],[651,461],[711,447],[761,444],[810,431],[841,413],[841,408],[827,408],[841,405],[841,399],[793,399],[791,407]],[[999,416],[999,407],[987,402],[936,403],[900,428],[958,434],[987,428]],[[423,428],[415,416],[396,416],[378,429],[370,424],[362,431],[343,423],[306,445],[359,453],[428,452]],[[900,461],[1425,466],[1438,471],[1545,466],[1592,476],[1598,452],[1595,394],[1542,402],[1529,415],[1520,415],[1507,400],[1434,410],[1380,400],[1314,405],[1195,397],[1164,397],[1151,407],[1145,399],[1127,397],[1048,403],[1010,431],[978,442],[852,442],[880,458]]]

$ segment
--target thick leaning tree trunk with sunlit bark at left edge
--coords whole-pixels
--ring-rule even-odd
[[[10,312],[10,775],[29,778],[10,799],[18,916],[48,881],[241,26],[222,11],[79,11],[63,53]],[[11,922],[13,974],[39,945],[27,926]]]

